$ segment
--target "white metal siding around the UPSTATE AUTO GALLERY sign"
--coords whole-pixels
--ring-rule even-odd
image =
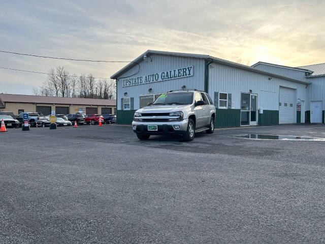
[[[151,62],[151,59],[152,62]],[[187,78],[178,78],[161,82],[154,82],[142,85],[133,85],[128,87],[122,87],[121,78],[117,82],[117,108],[119,109],[121,98],[124,97],[124,93],[127,92],[125,97],[134,98],[134,109],[140,108],[139,95],[148,94],[148,89],[152,88],[152,93],[168,92],[173,89],[181,89],[183,85],[186,88],[204,89],[204,59],[193,57],[179,57],[170,55],[153,54],[147,58],[146,61],[140,63],[140,72],[136,73],[139,69],[138,66],[128,70],[121,77],[132,75],[131,77],[137,77],[146,74],[152,74],[155,72],[176,69],[193,65],[193,76]]]

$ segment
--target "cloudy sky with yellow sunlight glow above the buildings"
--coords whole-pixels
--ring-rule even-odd
[[[325,63],[325,1],[2,1],[0,50],[133,60],[147,49],[209,54],[244,65]],[[126,64],[0,53],[0,67],[110,77]],[[0,92],[32,94],[46,75],[0,69]]]

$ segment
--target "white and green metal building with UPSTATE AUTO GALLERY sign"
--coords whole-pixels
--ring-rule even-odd
[[[188,88],[214,99],[216,127],[304,123],[300,110],[308,109],[312,73],[306,67],[249,67],[209,55],[148,50],[111,76],[117,81],[117,123],[131,124],[134,112],[160,93]]]

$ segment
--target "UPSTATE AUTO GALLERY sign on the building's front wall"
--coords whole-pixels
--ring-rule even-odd
[[[126,87],[132,85],[141,85],[146,83],[185,78],[190,76],[193,76],[193,66],[187,66],[184,68],[162,71],[150,75],[142,75],[138,77],[123,79],[122,86]]]

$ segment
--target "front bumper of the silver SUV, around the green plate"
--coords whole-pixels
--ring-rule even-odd
[[[133,132],[147,135],[161,135],[161,134],[185,134],[187,131],[188,119],[181,121],[170,121],[170,122],[143,122],[133,121],[132,128]],[[148,126],[157,126],[158,131],[148,131]],[[177,128],[175,128],[175,126]]]

